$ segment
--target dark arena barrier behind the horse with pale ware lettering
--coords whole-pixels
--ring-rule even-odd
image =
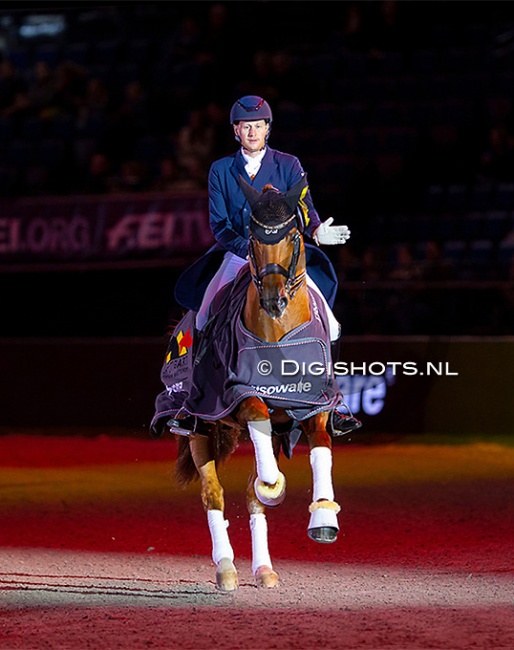
[[[165,338],[0,340],[0,427],[141,432],[162,390],[166,343]],[[335,370],[366,431],[513,432],[514,338],[347,337]]]

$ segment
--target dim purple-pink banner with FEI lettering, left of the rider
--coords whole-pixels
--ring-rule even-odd
[[[169,259],[213,243],[207,195],[74,196],[0,202],[0,269]]]

